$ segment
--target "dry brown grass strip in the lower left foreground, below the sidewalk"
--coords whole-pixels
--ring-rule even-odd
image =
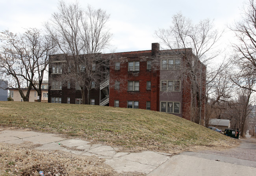
[[[78,156],[61,151],[39,151],[37,145],[0,143],[0,176],[142,176],[119,174],[104,160],[94,156]]]

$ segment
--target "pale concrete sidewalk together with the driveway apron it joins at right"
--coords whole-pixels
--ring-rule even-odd
[[[80,156],[98,156],[106,159],[105,163],[119,173],[141,172],[148,176],[256,176],[255,161],[239,160],[238,162],[237,158],[225,156],[221,158],[214,154],[184,152],[171,156],[152,151],[127,153],[120,152],[118,148],[101,144],[92,145],[85,140],[66,139],[56,134],[4,129],[2,131],[0,129],[0,142],[14,144],[32,142],[41,144],[40,147],[35,148],[39,150],[60,150]]]

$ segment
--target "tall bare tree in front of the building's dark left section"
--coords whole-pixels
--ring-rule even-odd
[[[109,58],[100,52],[109,46],[112,34],[106,23],[109,15],[102,9],[80,8],[78,2],[65,4],[60,1],[59,11],[45,24],[59,50],[65,54],[68,72],[58,78],[63,83],[72,82],[80,87],[83,103],[89,104],[90,90],[106,78]],[[85,102],[87,94],[87,102]]]

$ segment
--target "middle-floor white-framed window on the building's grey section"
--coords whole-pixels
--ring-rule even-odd
[[[161,91],[180,92],[180,80],[161,80]]]

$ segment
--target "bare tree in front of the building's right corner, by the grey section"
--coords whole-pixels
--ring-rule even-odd
[[[179,75],[184,76],[182,80],[184,85],[187,85],[184,89],[191,90],[191,120],[201,123],[202,102],[205,98],[202,96],[205,66],[211,59],[218,56],[219,52],[214,51],[214,47],[221,34],[213,28],[213,22],[209,19],[193,24],[190,19],[178,13],[173,16],[169,29],[159,29],[156,31],[156,36],[160,38],[161,44],[172,49],[174,53],[176,50],[176,54],[184,58]],[[184,52],[178,52],[179,49],[183,49]]]

